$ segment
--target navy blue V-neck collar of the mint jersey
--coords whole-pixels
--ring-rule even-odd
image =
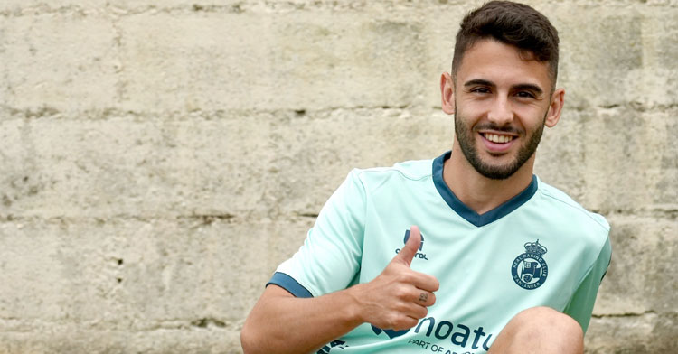
[[[468,208],[466,204],[461,202],[455,193],[450,191],[449,187],[447,187],[447,183],[443,180],[443,165],[451,155],[452,152],[448,151],[433,160],[433,183],[436,185],[436,189],[438,190],[438,193],[440,193],[440,196],[447,202],[447,205],[449,205],[452,210],[455,210],[460,217],[466,219],[466,221],[471,224],[476,225],[476,227],[485,226],[495,220],[504,218],[504,216],[510,214],[513,210],[518,209],[518,207],[523,205],[527,200],[530,200],[534,193],[537,192],[537,177],[532,175],[532,182],[530,182],[530,185],[518,193],[518,195],[510,200],[506,200],[504,204],[493,210],[478,214],[475,210]]]

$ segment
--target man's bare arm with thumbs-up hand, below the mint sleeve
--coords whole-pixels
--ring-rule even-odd
[[[240,333],[245,353],[312,352],[369,322],[396,331],[413,327],[435,303],[438,280],[410,269],[421,237],[410,240],[370,283],[315,298],[297,298],[269,285]],[[424,293],[426,300],[420,300]]]

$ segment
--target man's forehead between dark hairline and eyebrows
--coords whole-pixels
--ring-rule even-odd
[[[547,61],[535,61],[531,53],[492,39],[478,41],[464,53],[455,79],[461,85],[485,79],[496,84],[531,83],[545,92],[551,87]]]

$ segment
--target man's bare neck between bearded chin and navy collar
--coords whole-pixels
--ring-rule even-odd
[[[483,214],[524,191],[532,182],[533,167],[534,154],[511,177],[505,180],[489,179],[468,163],[455,141],[452,154],[445,162],[443,180],[468,208]]]

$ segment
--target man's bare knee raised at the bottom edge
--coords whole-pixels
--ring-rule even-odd
[[[518,313],[494,340],[490,353],[582,353],[584,333],[570,316],[549,307]]]

